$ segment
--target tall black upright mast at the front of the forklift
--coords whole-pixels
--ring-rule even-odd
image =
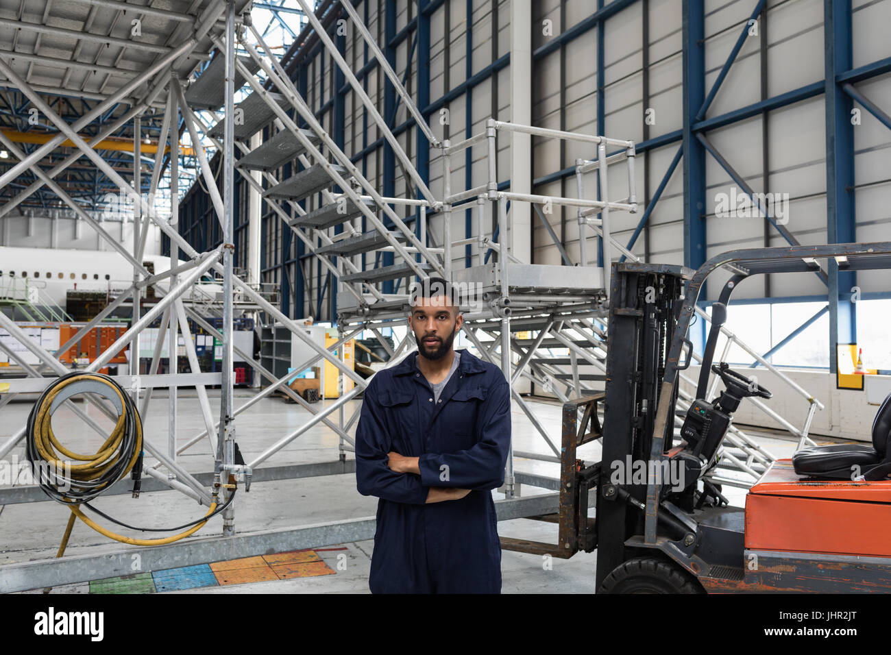
[[[609,305],[609,348],[601,481],[597,495],[597,585],[629,559],[625,541],[643,529],[647,485],[634,484],[630,463],[647,463],[659,391],[665,377],[666,350],[674,338],[683,289],[693,271],[684,266],[614,264]],[[690,344],[687,341],[688,345]],[[689,352],[688,362],[689,364]],[[669,415],[674,415],[677,387]],[[674,422],[667,422],[664,450],[673,446]],[[625,471],[621,487],[611,484]],[[623,499],[617,497],[621,494]],[[631,496],[631,498],[627,498]],[[636,502],[635,502],[636,501]]]

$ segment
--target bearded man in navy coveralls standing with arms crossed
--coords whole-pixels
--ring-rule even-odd
[[[501,370],[454,350],[451,285],[414,285],[418,351],[377,373],[356,428],[356,486],[380,498],[372,593],[501,593],[492,489],[504,482],[511,395]]]

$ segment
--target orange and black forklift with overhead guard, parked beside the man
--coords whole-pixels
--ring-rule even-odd
[[[801,448],[764,471],[744,507],[731,506],[708,476],[741,400],[771,397],[713,363],[732,291],[756,274],[823,274],[817,262],[827,259],[846,271],[891,268],[891,242],[732,250],[696,271],[613,265],[606,389],[564,405],[560,541],[552,545],[559,557],[597,550],[599,594],[891,591],[891,396],[873,422],[872,446]],[[687,331],[719,270],[730,277],[712,305],[696,400],[678,439]],[[709,373],[724,387],[712,401]],[[576,447],[594,439],[601,462],[577,460]],[[617,479],[617,463],[632,462],[645,464],[645,479]],[[591,490],[596,519],[588,517]]]

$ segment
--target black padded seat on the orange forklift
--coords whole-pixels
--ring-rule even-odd
[[[888,394],[872,422],[872,446],[839,444],[802,448],[792,455],[792,466],[803,478],[853,479],[855,474],[867,479],[885,479],[891,470],[887,453],[891,437],[891,394]],[[879,464],[882,466],[879,468]]]

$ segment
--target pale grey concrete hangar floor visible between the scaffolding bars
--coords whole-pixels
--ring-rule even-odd
[[[235,406],[244,403],[252,392],[237,389]],[[210,392],[211,405],[218,406],[218,394]],[[323,401],[330,403],[332,401]],[[357,403],[347,406],[347,418],[355,410]],[[12,403],[0,410],[0,442],[17,430],[28,417],[29,403]],[[97,422],[110,424],[92,405],[86,409]],[[550,430],[552,440],[559,442],[561,407],[552,403],[535,403],[536,416]],[[549,449],[541,436],[528,422],[517,405],[513,407],[514,448],[519,451],[548,454]],[[282,436],[296,430],[307,420],[307,410],[295,404],[285,403],[279,397],[264,398],[236,419],[236,438],[245,460],[250,461],[257,454],[272,445]],[[337,413],[332,414],[336,420]],[[146,438],[166,450],[168,445],[168,398],[158,394],[152,400],[147,417],[143,417]],[[86,427],[73,413],[60,410],[53,416],[53,430],[66,446],[79,452],[94,452],[101,443],[99,435]],[[177,444],[182,446],[203,430],[200,406],[193,391],[180,392],[177,412]],[[771,435],[758,436],[758,441],[772,454],[788,457],[794,450],[794,442]],[[586,444],[579,456],[587,461],[600,459],[600,445]],[[23,459],[23,451],[13,454]],[[292,463],[331,462],[338,456],[338,438],[327,427],[315,427],[300,438],[292,441],[270,458],[265,465]],[[351,455],[347,455],[351,456]],[[213,457],[208,439],[192,446],[178,461],[187,471],[212,471]],[[529,473],[558,478],[556,463],[516,458],[515,469]],[[544,489],[523,487],[523,495],[549,493]],[[728,495],[733,504],[741,504],[744,492],[731,489]],[[493,492],[496,499],[503,495]],[[138,499],[129,495],[112,495],[97,499],[93,503],[111,516],[127,520],[128,523],[143,526],[178,525],[198,518],[203,511],[195,502],[175,491],[143,493]],[[249,494],[241,494],[237,499],[235,525],[239,532],[252,532],[271,528],[298,527],[335,520],[349,520],[373,516],[377,499],[360,495],[356,491],[353,474],[325,476],[321,478],[291,479],[255,483]],[[0,507],[0,564],[24,562],[53,557],[59,546],[69,511],[51,501],[6,505]],[[220,534],[222,519],[216,517],[201,528],[198,535]],[[129,533],[122,528],[122,532]],[[541,521],[518,519],[501,521],[499,534],[515,536],[534,541],[553,543],[557,539],[557,526]],[[145,535],[140,535],[145,536]],[[320,544],[323,545],[323,544]],[[347,551],[347,567],[338,568],[338,552],[320,552],[337,575],[294,578],[272,582],[202,587],[191,592],[171,593],[367,593],[368,571],[371,563],[372,542],[343,544]],[[79,523],[75,527],[66,555],[109,553],[128,548],[86,528]],[[342,559],[341,559],[342,561]],[[596,553],[577,553],[570,560],[552,560],[552,568],[543,566],[540,555],[503,552],[503,593],[593,593]],[[40,590],[36,590],[37,593]],[[88,585],[67,585],[56,587],[53,593],[86,593]]]

